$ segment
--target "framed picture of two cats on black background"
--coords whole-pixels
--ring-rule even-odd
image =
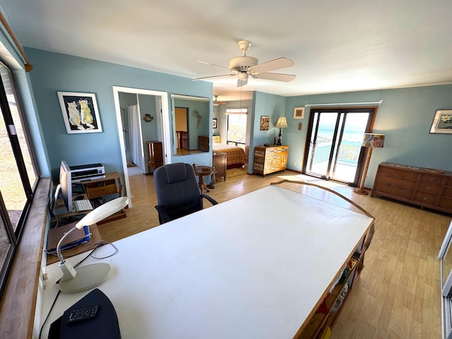
[[[102,132],[94,93],[57,92],[66,132]]]

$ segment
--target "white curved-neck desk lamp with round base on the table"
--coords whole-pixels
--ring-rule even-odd
[[[80,292],[93,288],[103,283],[110,272],[108,263],[93,263],[81,266],[77,269],[73,268],[71,263],[64,260],[61,254],[61,244],[63,244],[64,239],[66,239],[73,230],[81,230],[83,226],[94,225],[96,222],[100,222],[100,220],[125,208],[128,203],[129,199],[126,196],[122,196],[102,204],[85,215],[73,228],[71,228],[71,230],[61,237],[57,244],[57,254],[60,261],[59,267],[63,271],[63,278],[61,278],[59,283],[61,292]]]

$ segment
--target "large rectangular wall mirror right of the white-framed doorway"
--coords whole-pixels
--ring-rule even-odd
[[[171,95],[173,155],[208,152],[210,99]]]

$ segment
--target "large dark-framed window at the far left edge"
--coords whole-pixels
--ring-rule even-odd
[[[0,64],[0,295],[37,184],[11,71]]]

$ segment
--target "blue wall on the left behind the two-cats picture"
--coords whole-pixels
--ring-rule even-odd
[[[62,159],[69,165],[102,162],[107,172],[122,172],[121,150],[112,87],[141,88],[167,93],[212,97],[212,83],[146,71],[102,61],[25,48],[33,64],[30,73],[52,177]],[[57,91],[95,93],[102,133],[67,134]],[[169,97],[169,96],[168,96]],[[168,106],[171,107],[170,102]],[[210,120],[210,119],[209,119]],[[181,162],[212,162],[211,153],[178,157]],[[174,161],[173,161],[174,162]]]

